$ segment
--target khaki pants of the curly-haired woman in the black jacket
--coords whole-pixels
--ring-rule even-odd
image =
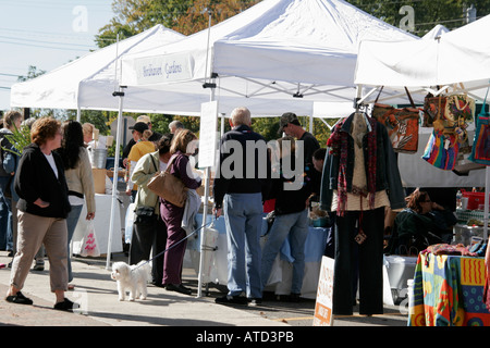
[[[44,217],[19,211],[17,251],[12,263],[10,284],[17,289],[30,271],[41,244],[49,259],[51,291],[68,290],[66,219]]]

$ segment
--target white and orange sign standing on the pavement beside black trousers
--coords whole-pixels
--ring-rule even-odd
[[[315,304],[314,326],[333,325],[333,270],[335,261],[322,257],[320,277],[318,278],[317,302]]]

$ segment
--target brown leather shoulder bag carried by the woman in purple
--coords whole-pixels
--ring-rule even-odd
[[[187,188],[179,177],[170,174],[170,169],[174,159],[175,157],[170,160],[164,172],[156,173],[154,177],[150,178],[147,186],[159,197],[182,208],[185,206],[185,200],[187,198]]]

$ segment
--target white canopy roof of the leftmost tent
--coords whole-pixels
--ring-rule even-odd
[[[119,110],[120,60],[125,54],[162,47],[185,36],[161,24],[66,63],[37,78],[12,86],[11,107],[48,109]],[[126,110],[145,110],[151,103],[146,91],[125,98]]]

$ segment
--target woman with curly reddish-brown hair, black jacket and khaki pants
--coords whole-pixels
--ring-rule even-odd
[[[17,252],[12,263],[11,284],[7,301],[32,304],[21,289],[34,256],[45,245],[50,262],[51,291],[54,309],[72,310],[73,302],[64,298],[68,290],[66,215],[70,212],[63,163],[53,150],[61,146],[60,122],[52,117],[37,120],[30,130],[33,144],[24,148],[15,176],[20,200]]]

